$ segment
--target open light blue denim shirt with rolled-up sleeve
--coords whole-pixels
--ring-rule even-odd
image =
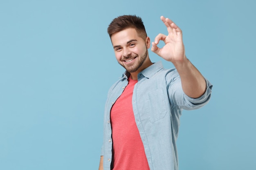
[[[124,73],[108,92],[101,148],[104,170],[110,170],[112,161],[110,110],[127,86],[128,76],[129,73]],[[138,74],[132,95],[132,108],[150,170],[178,170],[176,140],[182,109],[197,109],[209,102],[212,85],[207,79],[206,84],[205,93],[193,99],[182,91],[177,70],[163,68],[162,62]]]

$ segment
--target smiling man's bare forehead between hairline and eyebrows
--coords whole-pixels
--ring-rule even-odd
[[[113,46],[126,44],[130,40],[142,40],[134,28],[127,28],[117,33],[112,34],[111,41]]]

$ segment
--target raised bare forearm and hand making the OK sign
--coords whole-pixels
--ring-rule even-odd
[[[202,74],[186,58],[181,29],[170,19],[161,16],[167,27],[168,35],[158,34],[152,42],[151,51],[173,63],[177,69],[186,95],[192,98],[200,97],[206,90],[206,82]],[[164,41],[162,49],[157,47],[159,41]]]

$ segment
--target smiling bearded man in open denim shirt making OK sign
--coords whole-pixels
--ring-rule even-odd
[[[141,18],[119,16],[108,27],[115,56],[126,72],[108,92],[99,170],[178,170],[182,109],[209,102],[212,85],[186,58],[182,31],[170,19],[161,20],[168,35],[157,35],[151,51],[176,69],[150,61],[150,38]],[[157,47],[160,40],[162,49]]]

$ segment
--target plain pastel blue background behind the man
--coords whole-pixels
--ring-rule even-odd
[[[210,103],[181,117],[180,170],[255,170],[255,8],[254,0],[0,0],[0,170],[98,168],[107,91],[124,72],[106,29],[124,14],[141,16],[151,41],[167,33],[160,16],[171,18],[213,84]]]

